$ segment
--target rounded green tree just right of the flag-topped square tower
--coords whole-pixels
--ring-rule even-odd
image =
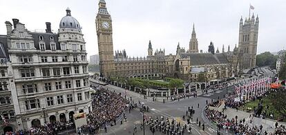
[[[270,52],[263,52],[256,56],[256,65],[259,67],[269,65],[270,67],[276,67],[276,60],[278,56],[274,56]]]

